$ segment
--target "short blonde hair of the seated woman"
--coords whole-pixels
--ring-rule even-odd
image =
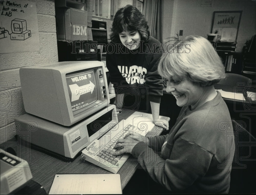
[[[211,43],[200,36],[188,36],[176,42],[162,55],[158,71],[167,79],[188,77],[199,83],[215,84],[225,78],[222,60]]]

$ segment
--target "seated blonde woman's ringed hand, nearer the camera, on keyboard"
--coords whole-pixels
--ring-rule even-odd
[[[114,146],[114,149],[116,149],[117,151],[113,155],[119,156],[123,153],[132,153],[133,147],[138,142],[139,141],[132,139],[132,137],[130,136],[126,137],[125,139],[118,140],[116,142],[116,145]]]

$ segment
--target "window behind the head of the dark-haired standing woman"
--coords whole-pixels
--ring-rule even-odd
[[[113,19],[116,11],[126,5],[133,5],[142,12],[144,0],[94,0],[93,16]]]

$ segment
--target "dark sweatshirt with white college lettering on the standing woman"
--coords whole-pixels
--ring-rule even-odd
[[[106,66],[116,94],[124,94],[124,109],[143,111],[150,101],[160,103],[162,77],[157,66],[163,52],[161,43],[150,37],[136,50],[121,42],[106,47]]]

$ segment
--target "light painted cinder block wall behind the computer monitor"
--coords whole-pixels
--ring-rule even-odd
[[[39,51],[0,54],[0,142],[17,132],[7,130],[15,117],[25,113],[19,68],[58,62],[54,0],[31,0],[36,3]]]

